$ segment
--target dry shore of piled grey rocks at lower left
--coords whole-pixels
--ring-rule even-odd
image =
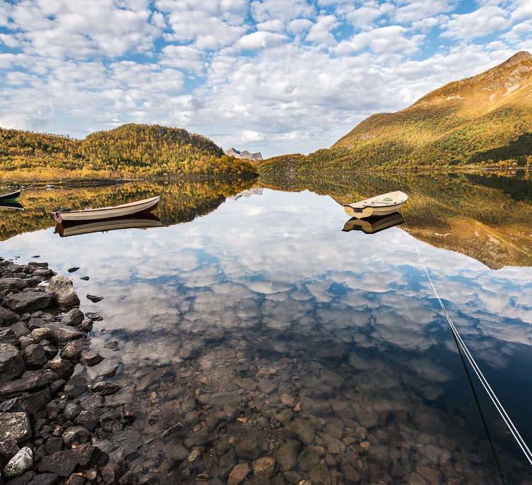
[[[95,444],[136,412],[112,400],[113,369],[89,377],[103,360],[88,338],[101,316],[79,303],[47,263],[0,258],[0,484],[138,483],[123,452]]]

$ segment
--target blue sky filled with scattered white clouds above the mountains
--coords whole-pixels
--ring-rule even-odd
[[[307,154],[519,50],[530,0],[0,0],[0,127]]]

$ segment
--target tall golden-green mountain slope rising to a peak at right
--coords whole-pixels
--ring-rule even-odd
[[[532,165],[531,132],[532,55],[518,52],[408,108],[370,116],[331,148],[300,158],[297,170]],[[258,167],[278,164],[279,157]]]

